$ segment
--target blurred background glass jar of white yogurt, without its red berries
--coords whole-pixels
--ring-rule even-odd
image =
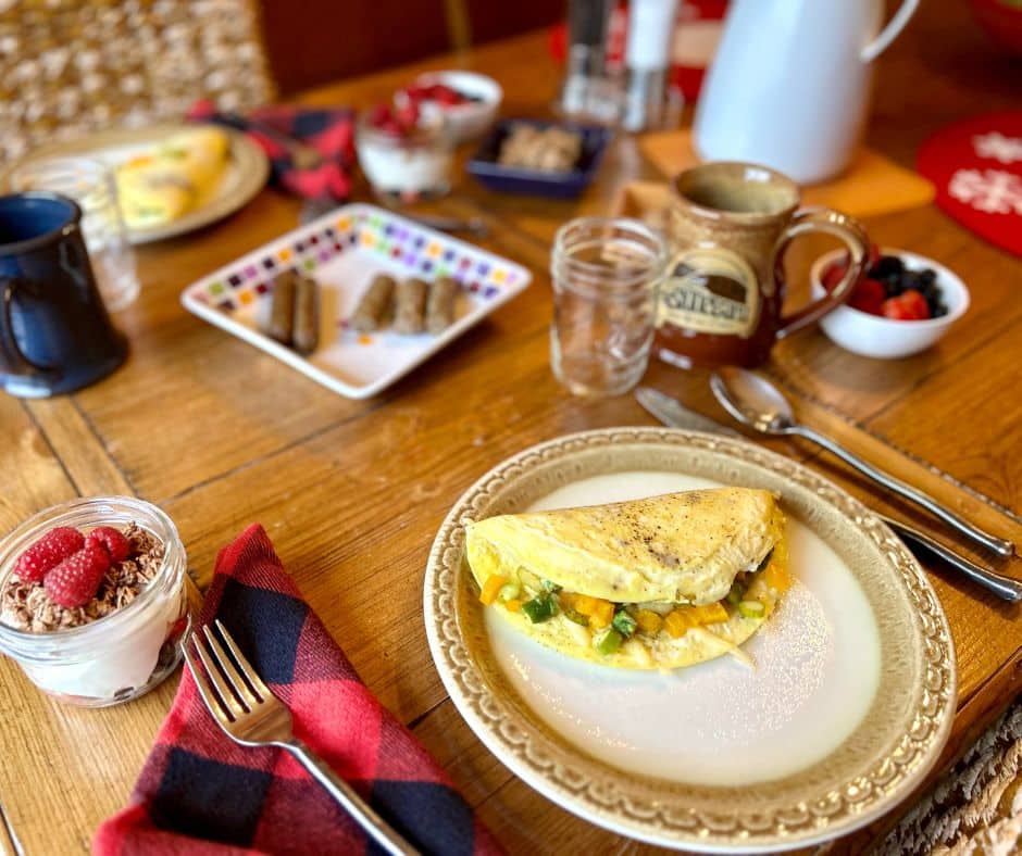
[[[354,138],[362,172],[385,202],[437,199],[450,190],[454,147],[447,124],[434,116],[407,137],[398,137],[359,116]]]

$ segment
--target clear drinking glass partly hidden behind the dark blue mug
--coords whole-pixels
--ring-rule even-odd
[[[88,158],[29,161],[11,175],[14,190],[51,190],[70,197],[82,209],[82,232],[92,273],[110,312],[123,310],[138,297],[135,253],[117,201],[110,169]]]

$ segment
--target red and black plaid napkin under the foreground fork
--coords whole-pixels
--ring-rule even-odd
[[[359,680],[253,524],[216,559],[199,624],[220,618],[290,707],[297,737],[424,853],[495,854],[444,770]],[[96,854],[375,854],[382,849],[284,750],[246,748],[213,721],[188,669]]]

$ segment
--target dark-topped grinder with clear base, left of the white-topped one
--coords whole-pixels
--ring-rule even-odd
[[[570,118],[614,122],[620,97],[607,77],[607,30],[614,0],[569,0],[568,67],[558,111]]]

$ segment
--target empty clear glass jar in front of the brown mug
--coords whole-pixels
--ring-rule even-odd
[[[624,217],[583,217],[553,243],[550,363],[576,395],[620,395],[646,372],[666,244]]]

